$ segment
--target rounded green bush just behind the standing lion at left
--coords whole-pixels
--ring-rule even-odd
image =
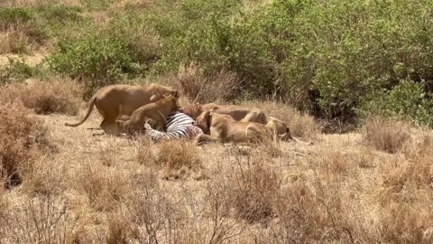
[[[85,97],[95,89],[134,75],[136,65],[124,43],[116,38],[89,35],[74,42],[64,40],[47,59],[51,70],[84,83]]]

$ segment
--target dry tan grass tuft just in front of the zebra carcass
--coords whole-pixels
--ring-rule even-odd
[[[177,179],[190,172],[196,174],[196,179],[204,176],[198,147],[187,140],[162,142],[158,163],[162,166],[161,176],[164,179]]]

